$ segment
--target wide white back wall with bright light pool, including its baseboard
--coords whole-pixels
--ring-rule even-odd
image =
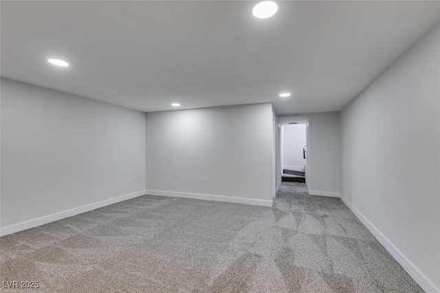
[[[272,105],[146,114],[153,195],[272,205]]]

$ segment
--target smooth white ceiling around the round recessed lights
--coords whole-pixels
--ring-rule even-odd
[[[338,111],[440,19],[439,1],[255,3],[2,1],[1,76],[146,112]]]

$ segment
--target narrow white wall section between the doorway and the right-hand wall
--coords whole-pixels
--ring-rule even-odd
[[[307,186],[311,195],[340,195],[339,112],[307,114]]]

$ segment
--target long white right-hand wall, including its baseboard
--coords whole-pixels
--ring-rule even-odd
[[[355,98],[341,122],[344,200],[424,290],[438,291],[440,26]]]

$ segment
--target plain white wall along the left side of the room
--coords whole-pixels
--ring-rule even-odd
[[[144,158],[144,113],[1,79],[3,232],[144,194]]]

